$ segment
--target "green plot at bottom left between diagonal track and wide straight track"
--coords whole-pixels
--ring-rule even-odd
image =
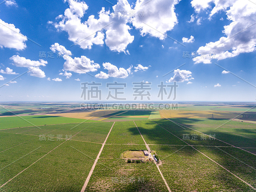
[[[80,191],[101,144],[67,141],[0,191]]]

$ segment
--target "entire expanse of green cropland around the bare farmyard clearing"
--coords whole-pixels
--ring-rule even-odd
[[[256,124],[224,118],[169,121],[158,111],[126,113],[120,116],[150,119],[113,125],[22,116],[42,125],[37,127],[16,116],[0,117],[0,192],[81,191],[103,145],[86,192],[168,192],[167,186],[172,192],[255,191]],[[160,164],[122,158],[125,151],[146,150],[143,139]]]

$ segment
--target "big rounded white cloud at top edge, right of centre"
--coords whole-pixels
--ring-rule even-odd
[[[141,36],[149,34],[163,40],[166,32],[172,30],[178,23],[174,12],[177,3],[179,0],[137,0],[134,7],[137,14],[133,17],[132,24],[140,29]]]

